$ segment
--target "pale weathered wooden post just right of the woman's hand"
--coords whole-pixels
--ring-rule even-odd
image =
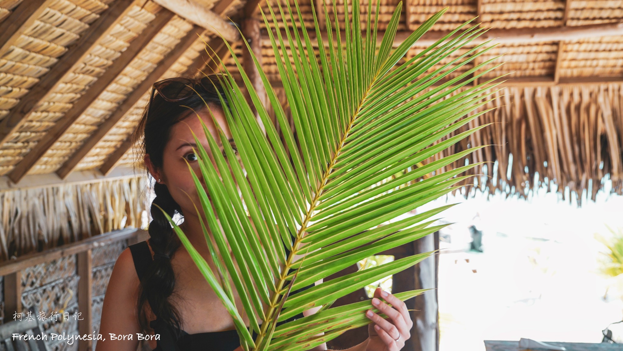
[[[427,235],[413,242],[415,254],[434,251],[435,236]],[[431,289],[437,287],[437,268],[435,257],[427,257],[415,266],[415,289]],[[439,306],[437,304],[437,292],[435,290],[424,292],[416,296],[416,315],[413,319],[414,351],[436,351],[439,347]]]

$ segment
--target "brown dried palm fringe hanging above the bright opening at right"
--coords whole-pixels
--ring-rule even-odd
[[[599,191],[606,191],[608,181],[612,182],[610,193],[623,195],[621,84],[508,87],[494,96],[497,99],[482,110],[498,108],[453,135],[475,123],[495,124],[424,162],[473,145],[492,145],[448,166],[488,161],[470,171],[482,176],[461,190],[466,198],[473,187],[490,195],[528,198],[538,188],[549,192],[556,185],[562,200],[575,198],[580,206],[587,198],[594,201]]]

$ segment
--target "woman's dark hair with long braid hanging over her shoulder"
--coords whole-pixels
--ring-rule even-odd
[[[221,92],[222,99],[226,101],[222,93],[222,86],[218,79],[211,79]],[[188,115],[191,110],[199,111],[206,107],[207,103],[214,103],[222,108],[221,100],[214,92],[207,92],[201,89],[200,85],[195,87],[198,94],[184,99],[181,102],[168,102],[159,94],[155,94],[150,106],[145,107],[143,116],[132,136],[135,145],[139,147],[139,155],[149,154],[150,160],[156,169],[163,166],[163,153],[166,143],[169,142],[171,127],[179,122],[181,117]],[[201,96],[200,96],[201,95]],[[205,102],[204,102],[205,100]],[[149,171],[148,171],[149,175]],[[162,208],[171,218],[175,213],[183,217],[182,209],[173,199],[166,185],[161,183],[154,184],[156,198],[151,203],[151,222],[148,227],[150,238],[148,243],[154,251],[154,261],[145,273],[140,282],[137,314],[138,320],[143,330],[150,330],[148,317],[146,315],[146,302],[153,313],[163,322],[173,328],[176,335],[181,336],[181,322],[179,311],[171,304],[169,297],[174,294],[175,274],[171,266],[170,257],[173,257],[181,245],[178,236],[174,233],[173,227],[166,219]]]

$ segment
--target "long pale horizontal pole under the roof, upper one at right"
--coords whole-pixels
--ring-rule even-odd
[[[402,44],[404,39],[411,35],[411,31],[399,31],[394,39],[394,46]],[[418,45],[430,45],[446,36],[448,31],[429,31],[416,42]],[[342,31],[342,34],[344,32]],[[378,32],[377,42],[381,44],[384,32]],[[490,29],[480,37],[472,41],[483,42],[495,39],[493,42],[499,43],[521,43],[530,44],[544,41],[574,41],[578,39],[605,37],[605,36],[623,36],[623,22],[589,24],[587,26],[575,27],[543,27],[530,29]],[[326,32],[322,32],[323,41],[327,41]],[[265,34],[262,40],[270,40]],[[312,39],[312,44],[316,44],[316,39]]]

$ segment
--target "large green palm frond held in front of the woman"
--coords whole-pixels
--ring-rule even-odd
[[[310,33],[298,20],[303,18],[298,2],[293,3],[294,8],[286,2],[285,9],[279,4],[278,14],[269,6],[270,13],[262,11],[262,17],[269,29],[271,23],[278,29],[277,23],[287,23],[287,19],[294,24],[286,25],[283,33],[269,30],[269,37],[297,137],[285,128],[282,142],[234,50],[226,42],[265,131],[238,82],[225,70],[219,80],[226,87],[231,110],[225,108],[224,112],[242,164],[222,130],[219,137],[226,156],[204,125],[209,145],[201,145],[195,135],[201,174],[196,175],[189,166],[201,199],[197,212],[217,272],[212,271],[171,221],[197,267],[229,310],[245,350],[311,349],[369,323],[364,316],[364,311],[371,307],[369,301],[330,306],[339,297],[414,266],[433,252],[324,281],[292,295],[290,291],[442,228],[431,226],[433,217],[452,205],[387,223],[469,180],[461,173],[480,163],[445,173],[438,170],[483,146],[423,162],[485,127],[454,133],[487,112],[475,111],[485,105],[485,97],[496,92],[495,85],[499,84],[493,84],[493,80],[473,84],[498,67],[492,65],[497,57],[448,79],[450,73],[490,49],[484,42],[448,59],[483,33],[471,21],[396,67],[445,10],[430,17],[394,48],[402,2],[397,5],[380,46],[376,40],[380,2],[374,14],[371,2],[368,4],[365,34],[361,30],[358,0],[353,1],[351,21],[346,16],[345,31],[341,31],[336,17],[332,24],[323,3],[321,12],[328,34],[325,41],[316,11],[312,11],[319,50],[316,55]],[[348,14],[346,1],[344,6],[343,12]],[[333,14],[336,13],[333,2]],[[292,59],[288,59],[286,47],[292,49]],[[253,54],[251,57],[277,122],[290,125],[262,67]],[[449,62],[441,64],[442,60]],[[218,125],[216,120],[215,124]],[[208,200],[208,193],[212,201]],[[208,232],[214,233],[214,243]],[[307,255],[294,261],[295,254]],[[229,286],[229,277],[234,286]],[[234,289],[244,311],[235,306]],[[404,301],[422,292],[395,295]],[[323,306],[320,312],[277,326],[277,322],[317,306]],[[249,316],[248,329],[241,317],[243,312]],[[257,333],[255,339],[252,332]],[[316,335],[320,333],[324,334]]]

